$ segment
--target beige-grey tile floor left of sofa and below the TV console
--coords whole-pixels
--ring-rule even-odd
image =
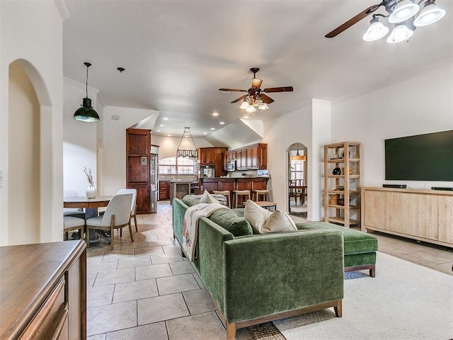
[[[88,340],[226,338],[200,278],[173,241],[171,205],[159,202],[157,211],[137,216],[134,242],[125,228],[122,239],[115,232],[113,251],[103,240],[88,249]],[[376,236],[379,247],[411,253],[438,266],[453,265],[453,249]],[[236,339],[252,336],[239,329]]]

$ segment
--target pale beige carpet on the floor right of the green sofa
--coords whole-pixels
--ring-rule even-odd
[[[377,276],[346,275],[343,317],[333,309],[274,322],[287,340],[453,338],[453,276],[377,253]]]

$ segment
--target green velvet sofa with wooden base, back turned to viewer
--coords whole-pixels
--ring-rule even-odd
[[[172,202],[180,244],[188,209],[183,200]],[[200,218],[192,264],[226,326],[226,338],[233,340],[238,328],[304,312],[333,307],[341,317],[343,261],[339,230],[253,235],[243,217],[222,209]]]

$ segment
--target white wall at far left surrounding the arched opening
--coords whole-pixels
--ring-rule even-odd
[[[62,240],[62,16],[54,1],[0,1],[0,245],[8,244],[8,68],[18,61],[40,103],[40,242]],[[13,217],[11,217],[13,218]]]

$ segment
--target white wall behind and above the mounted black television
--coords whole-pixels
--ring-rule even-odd
[[[444,130],[453,130],[453,60],[332,104],[333,142],[362,142],[362,186],[453,186],[453,182],[384,180],[384,139]]]

